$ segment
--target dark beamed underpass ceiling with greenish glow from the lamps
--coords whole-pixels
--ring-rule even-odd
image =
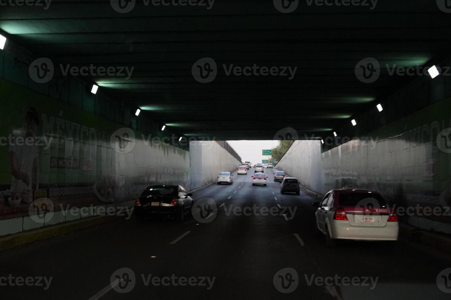
[[[134,67],[128,80],[85,79],[178,134],[216,139],[273,139],[285,127],[325,136],[415,79],[383,68],[376,82],[362,83],[354,75],[361,59],[407,67],[440,61],[450,50],[451,13],[432,0],[379,0],[372,10],[300,1],[287,14],[271,0],[216,0],[209,10],[143,3],[129,13],[109,0],[2,6],[0,29],[55,64]],[[207,84],[191,74],[204,57],[219,68]],[[226,76],[222,64],[298,68],[288,80]]]

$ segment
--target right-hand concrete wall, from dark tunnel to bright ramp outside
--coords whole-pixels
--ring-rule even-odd
[[[322,194],[353,184],[378,191],[397,207],[418,205],[419,213],[415,208],[414,213],[402,215],[400,210],[400,219],[418,228],[451,233],[449,112],[451,99],[323,153],[320,142],[295,141],[276,168]],[[431,213],[428,207],[440,213]]]

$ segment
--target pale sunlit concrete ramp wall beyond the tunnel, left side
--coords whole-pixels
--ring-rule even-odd
[[[220,172],[234,171],[241,165],[241,158],[236,155],[235,151],[227,151],[226,148],[221,147],[220,143],[227,144],[225,141],[190,142],[189,189],[210,184],[216,181]]]

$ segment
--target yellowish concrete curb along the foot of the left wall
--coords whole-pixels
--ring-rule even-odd
[[[80,229],[106,223],[117,218],[119,217],[96,216],[7,235],[5,237],[0,238],[0,251],[8,250],[18,246],[23,246],[26,244],[30,244],[32,242],[45,240],[51,237],[57,237],[60,235],[64,235],[66,233],[71,233]]]

